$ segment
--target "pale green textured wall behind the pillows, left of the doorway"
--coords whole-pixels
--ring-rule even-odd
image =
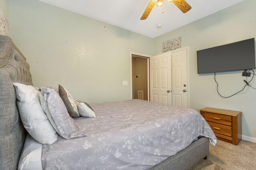
[[[61,84],[89,103],[132,98],[130,52],[153,54],[152,38],[37,0],[10,0],[10,34],[35,86]]]

